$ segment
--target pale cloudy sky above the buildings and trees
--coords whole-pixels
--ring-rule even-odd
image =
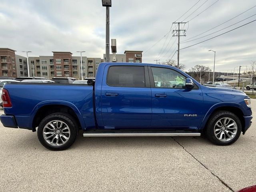
[[[256,21],[185,47],[256,20],[253,6],[255,0],[112,0],[110,39],[117,41],[117,54],[142,50],[146,63],[177,60],[178,39],[172,36],[177,25],[172,22],[187,22],[180,25],[186,30],[186,36],[180,37],[180,63],[186,70],[197,64],[213,70],[214,52],[208,50],[216,51],[215,71],[233,72],[237,66],[246,70],[256,61]],[[70,51],[79,56],[76,51],[81,50],[86,51],[84,56],[103,58],[105,27],[106,8],[100,0],[0,0],[0,47],[17,50],[18,55],[25,56],[22,51],[32,51],[29,56]]]

